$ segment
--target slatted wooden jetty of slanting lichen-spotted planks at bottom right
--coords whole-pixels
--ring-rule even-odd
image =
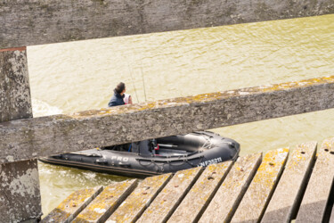
[[[330,138],[83,189],[42,222],[334,222],[333,169]]]

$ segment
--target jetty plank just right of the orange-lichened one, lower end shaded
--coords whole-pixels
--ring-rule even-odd
[[[293,150],[261,222],[290,222],[293,218],[314,163],[316,145],[309,142]]]

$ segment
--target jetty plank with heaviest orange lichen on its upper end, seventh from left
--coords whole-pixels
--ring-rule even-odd
[[[265,213],[273,190],[288,158],[289,149],[273,150],[265,154],[264,160],[257,169],[257,174],[248,186],[248,190],[232,222],[258,222]]]

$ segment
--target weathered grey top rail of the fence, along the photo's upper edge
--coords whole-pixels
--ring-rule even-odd
[[[0,48],[334,13],[332,0],[4,0]]]

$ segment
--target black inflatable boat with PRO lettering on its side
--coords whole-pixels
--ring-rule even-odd
[[[40,161],[127,177],[149,177],[235,160],[240,145],[213,132],[167,136],[128,145],[64,153]]]

